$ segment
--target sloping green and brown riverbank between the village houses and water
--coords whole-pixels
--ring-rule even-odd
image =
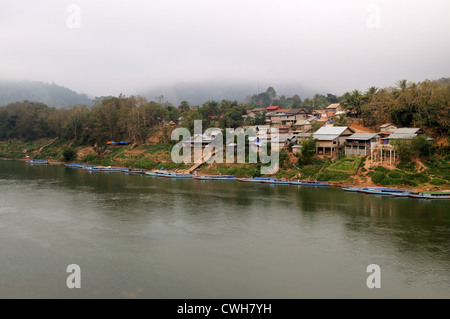
[[[64,161],[64,152],[73,150],[74,157]],[[192,165],[174,163],[169,143],[146,143],[129,146],[107,146],[101,151],[92,146],[73,146],[61,140],[0,143],[0,158],[26,161],[46,159],[51,165],[80,162],[84,164],[122,166],[141,169],[173,169],[186,171]],[[297,156],[280,157],[280,170],[271,177],[330,181],[335,187],[390,186],[414,191],[439,191],[450,188],[450,158],[440,157],[432,162],[396,163],[392,166],[372,166],[361,157],[343,157],[338,161],[317,158],[314,163],[299,167]],[[259,176],[258,164],[204,164],[198,174],[222,174],[236,177]]]

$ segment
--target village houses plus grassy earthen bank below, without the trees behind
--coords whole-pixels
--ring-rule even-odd
[[[334,122],[346,115],[338,103],[329,105],[325,110],[314,111],[270,106],[249,110],[244,118],[254,118],[259,114],[265,115],[266,124],[245,125],[243,128],[257,132],[257,138],[250,137],[248,143],[270,143],[272,150],[280,152],[280,169],[274,176],[266,176],[268,179],[317,180],[341,187],[408,187],[415,191],[439,191],[449,188],[449,181],[445,179],[448,178],[448,167],[439,170],[439,167],[434,167],[431,162],[423,163],[418,158],[409,163],[401,160],[402,154],[399,154],[396,144],[398,140],[410,142],[413,139],[421,139],[430,147],[436,144],[421,128],[399,128],[386,123],[380,126],[378,132],[374,132],[358,124],[357,119],[350,120],[349,125],[336,125]],[[204,176],[261,176],[258,173],[261,166],[259,163],[207,164],[206,158],[200,164],[173,163],[170,158],[173,143],[161,143],[160,139],[157,139],[167,127],[173,129],[176,125],[173,121],[163,123],[161,130],[148,143],[141,145],[109,141],[106,143],[103,157],[94,151],[94,147],[78,147],[76,157],[70,158],[70,162],[142,170],[162,168]],[[271,134],[271,128],[278,129],[276,136]],[[314,128],[317,129],[314,131]],[[190,143],[192,147],[201,144],[204,149],[213,138],[214,134],[211,133],[194,135]],[[275,139],[277,142],[271,143]],[[314,148],[307,146],[311,141],[314,141]],[[305,145],[310,147],[309,154],[302,150]],[[61,144],[57,140],[3,142],[0,149],[3,157],[9,152],[13,155],[11,157],[18,160],[45,158],[50,164],[67,164],[63,158],[64,155],[67,156],[64,154],[67,144]],[[302,166],[301,160],[308,156],[311,157],[311,163]]]

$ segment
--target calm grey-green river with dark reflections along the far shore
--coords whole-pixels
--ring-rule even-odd
[[[0,161],[0,298],[450,298],[449,204]]]

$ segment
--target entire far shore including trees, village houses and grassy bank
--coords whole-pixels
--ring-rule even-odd
[[[279,168],[262,177],[445,190],[450,188],[449,92],[449,81],[442,79],[403,80],[396,88],[372,87],[342,97],[316,94],[304,101],[297,95],[278,97],[268,88],[245,103],[183,101],[177,108],[122,95],[64,110],[17,102],[0,107],[0,158],[254,178],[261,177],[264,164],[250,162],[248,148],[266,146],[279,152]],[[200,133],[194,131],[195,120],[202,121]],[[187,141],[192,148],[207,148],[226,128],[256,136],[245,139],[246,163],[205,163],[206,157],[175,163],[176,128],[194,133]],[[227,143],[225,148],[235,146]]]

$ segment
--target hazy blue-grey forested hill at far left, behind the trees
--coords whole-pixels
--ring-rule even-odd
[[[0,106],[25,100],[40,102],[57,108],[92,105],[92,100],[86,94],[78,94],[54,83],[0,81]]]

